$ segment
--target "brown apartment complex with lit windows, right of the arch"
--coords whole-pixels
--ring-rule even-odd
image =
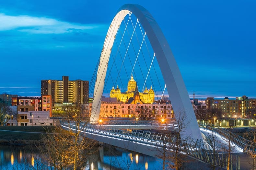
[[[222,114],[230,118],[244,118],[250,114],[251,110],[255,109],[256,99],[249,99],[246,95],[242,97],[236,97],[236,99],[214,99],[213,97],[207,97],[206,107],[217,108]]]

